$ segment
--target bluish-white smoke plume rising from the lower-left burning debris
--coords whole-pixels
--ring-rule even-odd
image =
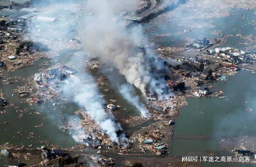
[[[99,122],[101,129],[109,135],[112,141],[119,143],[119,137],[116,132],[121,130],[121,125],[114,121],[113,115],[111,113],[106,113],[103,108],[105,100],[92,82],[92,77],[83,73],[83,83],[78,77],[71,75],[71,79],[65,84],[65,93],[69,96],[71,93],[75,93],[75,102],[80,106],[85,108],[86,112],[91,116],[93,120]],[[89,82],[88,82],[89,81]],[[120,137],[121,141],[125,141],[126,138]]]

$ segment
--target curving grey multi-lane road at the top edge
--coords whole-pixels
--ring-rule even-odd
[[[172,3],[177,2],[178,0],[162,0],[160,3],[157,3],[156,0],[151,0],[151,7],[136,15],[136,16],[124,16],[124,19],[128,20],[135,20],[135,21],[141,21],[143,18],[149,16],[150,14],[155,14],[163,9],[165,9],[167,6],[169,6]]]

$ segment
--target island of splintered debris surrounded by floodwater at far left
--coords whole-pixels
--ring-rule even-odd
[[[28,94],[32,96],[33,98],[26,99],[30,105],[52,101],[59,97],[62,87],[65,84],[65,79],[74,73],[77,73],[77,71],[65,65],[45,69],[41,73],[36,73],[34,77],[26,79],[26,84],[17,87],[14,92],[18,93],[21,97],[27,96]]]

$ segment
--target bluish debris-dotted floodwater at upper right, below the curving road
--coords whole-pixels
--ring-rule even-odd
[[[175,9],[174,9],[175,10]],[[203,27],[203,28],[192,28],[190,32],[184,33],[185,29],[183,25],[180,25],[177,21],[165,22],[161,24],[160,21],[155,21],[152,23],[143,24],[143,28],[147,29],[153,26],[156,26],[156,29],[150,31],[149,37],[153,38],[158,35],[170,33],[163,38],[159,39],[159,43],[162,43],[164,46],[177,45],[182,38],[192,38],[192,39],[203,39],[206,38],[223,38],[226,35],[233,35],[227,37],[226,43],[223,46],[233,46],[238,49],[245,49],[246,45],[243,43],[248,40],[242,39],[237,34],[241,35],[256,35],[255,31],[255,10],[242,10],[242,9],[233,9],[230,11],[231,16],[224,18],[213,18],[213,19],[194,19],[198,24],[211,24],[212,27]],[[182,17],[182,16],[181,16]],[[213,34],[212,31],[218,31],[222,35]],[[179,33],[182,32],[182,33]],[[177,35],[178,34],[178,35]],[[249,51],[256,51],[256,49],[248,49]]]

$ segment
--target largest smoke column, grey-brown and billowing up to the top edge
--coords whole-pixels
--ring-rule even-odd
[[[165,99],[160,84],[156,84],[158,81],[150,73],[149,55],[140,49],[147,45],[141,26],[128,29],[125,21],[111,22],[113,18],[120,17],[117,13],[124,10],[120,3],[115,0],[88,1],[87,8],[93,9],[93,16],[85,18],[81,29],[83,47],[90,54],[100,57],[103,63],[117,68],[130,84],[144,94],[147,90],[153,90],[159,98]]]

